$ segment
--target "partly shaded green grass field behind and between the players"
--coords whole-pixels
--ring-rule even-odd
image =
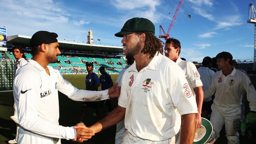
[[[85,89],[85,75],[63,75],[65,79],[70,81],[78,89]],[[99,76],[99,75],[98,75]],[[115,83],[117,75],[111,75],[113,82]],[[254,87],[256,86],[256,77],[251,77]],[[99,88],[100,90],[101,88]],[[6,144],[8,140],[15,138],[16,135],[16,124],[10,119],[13,115],[13,92],[0,92],[0,144]],[[117,99],[111,99],[111,104],[113,107],[117,106]],[[105,107],[106,112],[106,107]],[[248,103],[246,107],[246,114],[248,113]],[[70,100],[64,94],[59,92],[59,124],[62,126],[74,126],[80,122],[80,116],[82,112],[82,102],[75,102]],[[90,126],[102,119],[100,117],[93,117],[92,113],[95,110],[88,108],[86,114],[85,125]],[[72,142],[71,140],[61,139],[62,144],[75,144],[77,142]],[[97,133],[84,144],[114,144],[115,143],[115,126],[110,127],[100,133]],[[221,136],[215,142],[215,144],[227,144],[226,137],[224,133],[224,128],[221,131]],[[240,144],[252,144],[248,142],[246,137],[240,137]]]

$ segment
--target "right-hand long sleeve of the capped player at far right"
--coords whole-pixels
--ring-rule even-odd
[[[249,101],[249,107],[251,111],[256,111],[256,91],[250,79],[246,74],[242,73],[242,85],[247,92],[247,100]]]

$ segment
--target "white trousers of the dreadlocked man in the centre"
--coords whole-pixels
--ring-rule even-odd
[[[126,130],[122,139],[122,144],[175,144],[175,136],[163,141],[151,141],[134,137]]]

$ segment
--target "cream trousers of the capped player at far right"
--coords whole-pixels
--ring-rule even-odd
[[[226,137],[228,144],[239,144],[239,133],[233,128],[235,119],[241,116],[241,107],[219,107],[214,103],[211,105],[211,124],[219,138],[220,131],[225,124]]]

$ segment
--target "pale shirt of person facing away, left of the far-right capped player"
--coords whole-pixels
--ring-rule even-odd
[[[213,70],[211,70],[208,67],[203,67],[201,66],[200,68],[197,68],[199,74],[200,74],[200,79],[203,83],[203,90],[207,90],[210,85],[211,85],[211,77],[215,73]],[[204,102],[208,102],[211,100],[211,97],[204,98]]]

